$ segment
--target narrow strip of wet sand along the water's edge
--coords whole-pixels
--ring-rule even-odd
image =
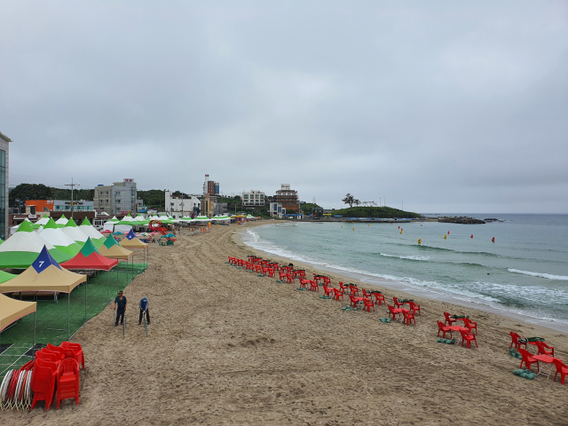
[[[288,221],[282,221],[282,223],[288,223]],[[263,225],[272,225],[272,224],[264,224],[264,223],[254,223],[251,225],[248,225],[247,227],[256,227],[256,226],[263,226]],[[487,313],[492,313],[494,315],[499,315],[502,317],[505,317],[507,319],[515,319],[516,321],[523,321],[527,326],[531,326],[531,327],[538,327],[538,329],[542,329],[543,332],[546,333],[563,333],[564,335],[568,335],[568,325],[566,324],[562,324],[562,323],[556,323],[553,320],[550,319],[539,319],[539,318],[534,318],[531,317],[529,315],[525,315],[522,313],[517,313],[517,312],[510,312],[507,311],[506,309],[498,309],[498,308],[493,308],[493,306],[489,306],[487,304],[479,304],[476,302],[471,302],[471,301],[465,301],[465,300],[461,300],[457,297],[454,296],[446,296],[443,295],[441,293],[437,293],[435,291],[431,291],[431,290],[426,290],[426,289],[422,289],[422,288],[414,288],[412,286],[407,285],[405,282],[402,281],[395,281],[395,280],[388,280],[388,279],[384,279],[384,278],[379,278],[379,277],[374,277],[372,275],[367,275],[366,273],[362,273],[362,272],[351,272],[351,271],[344,271],[342,269],[338,269],[338,268],[334,268],[334,267],[330,267],[330,266],[324,266],[321,264],[312,264],[311,262],[307,262],[307,261],[299,261],[299,260],[295,260],[295,259],[290,259],[288,257],[285,256],[280,256],[280,255],[275,255],[273,253],[264,251],[260,248],[254,248],[252,246],[249,246],[248,244],[246,244],[242,238],[241,233],[246,232],[245,230],[239,230],[236,231],[232,234],[233,237],[233,241],[237,240],[238,244],[241,244],[241,247],[248,249],[248,250],[253,250],[254,254],[256,256],[268,256],[268,257],[273,257],[275,259],[282,259],[282,264],[288,264],[288,263],[294,263],[294,264],[299,264],[301,265],[304,269],[313,269],[316,271],[321,271],[321,272],[328,272],[328,273],[332,273],[334,275],[338,275],[340,277],[344,277],[344,279],[339,279],[342,281],[346,281],[345,279],[350,279],[350,280],[357,280],[360,283],[366,284],[367,286],[374,286],[376,288],[382,288],[382,289],[389,289],[389,290],[393,290],[396,291],[397,294],[403,295],[405,297],[407,296],[419,296],[419,297],[425,297],[428,298],[430,300],[433,301],[437,301],[440,303],[446,303],[446,304],[454,304],[457,306],[461,306],[464,308],[469,308],[469,309],[475,309],[477,311],[481,311],[481,312],[487,312]]]

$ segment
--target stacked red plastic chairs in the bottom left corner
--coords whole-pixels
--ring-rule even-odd
[[[30,409],[34,409],[38,401],[45,401],[45,411],[48,411],[54,396],[58,408],[61,400],[67,398],[75,398],[78,405],[79,364],[84,370],[83,348],[79,343],[63,342],[61,346],[47,343],[46,348],[36,351],[32,376],[34,399]]]

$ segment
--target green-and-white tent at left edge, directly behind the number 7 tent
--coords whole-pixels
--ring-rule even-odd
[[[0,245],[0,268],[28,268],[41,253],[43,246],[47,246],[51,256],[58,262],[65,262],[73,257],[43,240],[34,232],[29,222],[22,222],[18,231]]]

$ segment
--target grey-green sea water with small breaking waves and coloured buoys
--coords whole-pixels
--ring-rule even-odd
[[[274,255],[426,290],[435,298],[451,296],[568,325],[568,215],[466,216],[502,222],[269,222],[247,229],[243,241]]]

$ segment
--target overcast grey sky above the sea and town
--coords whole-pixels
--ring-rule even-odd
[[[10,184],[568,213],[568,2],[0,2]]]

